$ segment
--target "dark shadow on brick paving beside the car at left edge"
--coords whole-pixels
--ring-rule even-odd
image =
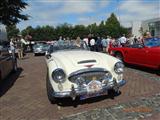
[[[0,81],[0,97],[14,85],[22,71],[22,68],[18,68],[15,73],[10,73],[6,79]]]

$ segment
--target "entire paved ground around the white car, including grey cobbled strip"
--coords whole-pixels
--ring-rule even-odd
[[[28,54],[18,65],[16,73],[0,81],[0,120],[160,119],[160,76],[153,70],[127,65],[120,95],[62,99],[52,105],[46,94],[45,57]]]

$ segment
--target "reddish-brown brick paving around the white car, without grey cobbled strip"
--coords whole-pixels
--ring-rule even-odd
[[[11,74],[5,81],[0,82],[0,120],[69,119],[68,116],[77,113],[108,109],[140,98],[152,98],[150,96],[160,91],[159,76],[152,71],[142,71],[129,66],[126,67],[124,76],[127,84],[121,89],[119,96],[102,96],[74,103],[71,99],[65,99],[62,104],[51,105],[46,95],[44,57],[29,54],[19,60],[18,65],[16,74]],[[154,116],[158,115],[158,112],[153,113]]]

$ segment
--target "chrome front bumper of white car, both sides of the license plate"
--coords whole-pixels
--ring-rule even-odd
[[[107,92],[109,89],[119,88],[125,84],[126,84],[126,80],[120,80],[118,82],[114,81],[112,83],[108,83],[108,85],[106,86],[103,86],[102,89],[98,91],[98,93]],[[89,94],[86,88],[77,89],[73,87],[71,88],[70,91],[54,92],[52,95],[57,98],[63,98],[63,97],[75,98],[76,96],[81,96],[81,95],[86,95],[86,94]]]

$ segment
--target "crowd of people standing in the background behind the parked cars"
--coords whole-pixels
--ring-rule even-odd
[[[127,45],[132,45],[136,43],[143,43],[144,38],[151,37],[150,33],[147,32],[146,36],[143,37],[137,37],[133,36],[130,38],[127,38],[125,34],[120,36],[119,38],[115,39],[111,36],[105,37],[96,37],[92,34],[89,34],[88,36],[84,38],[77,37],[76,42],[77,44],[80,41],[84,41],[91,51],[96,52],[108,52],[109,47],[125,47]],[[31,38],[31,37],[30,37]],[[11,38],[10,40],[10,51],[11,53],[18,53],[18,58],[23,58],[25,51],[32,51],[33,49],[33,43],[31,43],[31,39],[27,40],[28,38],[25,37],[25,39],[22,36],[17,36],[16,38]],[[69,37],[63,38],[62,36],[59,37],[58,42],[63,43],[63,41],[71,40]],[[55,40],[56,41],[56,40]]]

